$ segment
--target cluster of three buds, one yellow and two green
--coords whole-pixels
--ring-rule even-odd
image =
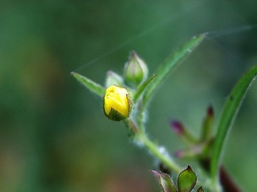
[[[124,77],[109,70],[106,74],[106,93],[103,97],[106,117],[114,121],[129,118],[132,102],[128,90],[141,85],[147,76],[146,63],[134,51],[131,52],[129,61],[125,64]]]

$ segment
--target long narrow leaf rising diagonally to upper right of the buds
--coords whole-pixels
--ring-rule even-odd
[[[148,86],[148,89],[143,95],[143,107],[146,107],[148,100],[151,99],[153,92],[156,90],[158,85],[167,77],[168,73],[181,61],[186,57],[189,53],[193,51],[205,38],[206,34],[200,34],[198,36],[194,36],[185,43],[180,49],[178,49],[175,53],[173,53],[170,57],[166,59],[166,61],[161,65],[156,72],[156,78],[153,79],[151,84]]]

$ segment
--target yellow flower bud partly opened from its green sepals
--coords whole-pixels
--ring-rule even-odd
[[[106,95],[103,97],[104,114],[111,120],[121,121],[129,117],[131,111],[131,101],[129,92],[116,85],[106,89]]]

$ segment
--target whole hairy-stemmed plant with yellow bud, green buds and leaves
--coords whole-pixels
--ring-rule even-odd
[[[194,36],[190,41],[185,43],[180,49],[168,57],[163,65],[158,68],[156,74],[148,79],[148,67],[146,63],[144,63],[135,52],[132,52],[129,62],[125,65],[124,80],[122,80],[120,75],[115,74],[114,77],[110,77],[108,73],[106,75],[106,82],[110,82],[109,78],[111,78],[113,84],[106,87],[106,91],[104,91],[104,87],[89,78],[79,75],[78,73],[71,73],[74,75],[74,78],[79,80],[79,82],[96,95],[104,95],[103,108],[106,117],[114,121],[123,120],[126,127],[128,127],[131,132],[130,136],[135,144],[144,146],[148,149],[150,154],[160,161],[159,164],[162,164],[162,166],[168,169],[168,171],[167,169],[165,170],[166,172],[173,173],[173,177],[174,174],[179,174],[178,181],[176,182],[172,181],[171,176],[166,173],[152,171],[163,192],[190,192],[196,186],[197,176],[191,169],[191,166],[182,170],[173,160],[173,156],[168,154],[164,146],[158,146],[158,144],[152,142],[151,139],[148,138],[145,126],[146,119],[148,119],[145,117],[147,114],[146,107],[148,106],[153,93],[156,92],[161,82],[166,79],[168,73],[178,65],[181,59],[186,57],[188,53],[191,53],[194,48],[203,41],[205,36],[206,34]],[[207,188],[208,191],[213,192],[241,191],[221,166],[221,154],[223,154],[225,140],[229,135],[246,91],[254,78],[256,78],[256,75],[257,65],[249,70],[246,75],[243,75],[233,88],[223,107],[221,119],[218,123],[218,131],[214,138],[212,137],[212,107],[208,107],[206,118],[203,121],[201,137],[194,138],[180,122],[171,122],[172,127],[178,135],[188,144],[188,149],[185,151],[178,151],[176,156],[180,158],[188,156],[194,157],[202,166],[203,170],[201,170],[200,173],[203,173],[203,171],[208,173],[206,175],[198,174],[198,178],[201,178],[202,183],[197,191],[204,191],[202,186]],[[108,85],[108,83],[106,83],[106,85]],[[133,87],[129,87],[129,85],[132,85]],[[129,90],[129,92],[127,90]],[[187,163],[191,164],[191,161],[188,161]],[[176,187],[174,183],[177,183],[178,186]]]

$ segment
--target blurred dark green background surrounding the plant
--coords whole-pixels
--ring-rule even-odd
[[[193,35],[216,31],[149,107],[150,137],[173,153],[184,146],[169,120],[199,134],[206,107],[213,105],[217,122],[236,80],[257,64],[256,6],[254,0],[1,0],[0,191],[160,191],[148,171],[155,168],[152,157],[131,144],[124,124],[104,117],[101,98],[70,72],[104,84],[106,71],[122,74],[136,50],[153,73]],[[256,191],[256,86],[224,154],[245,191]]]

